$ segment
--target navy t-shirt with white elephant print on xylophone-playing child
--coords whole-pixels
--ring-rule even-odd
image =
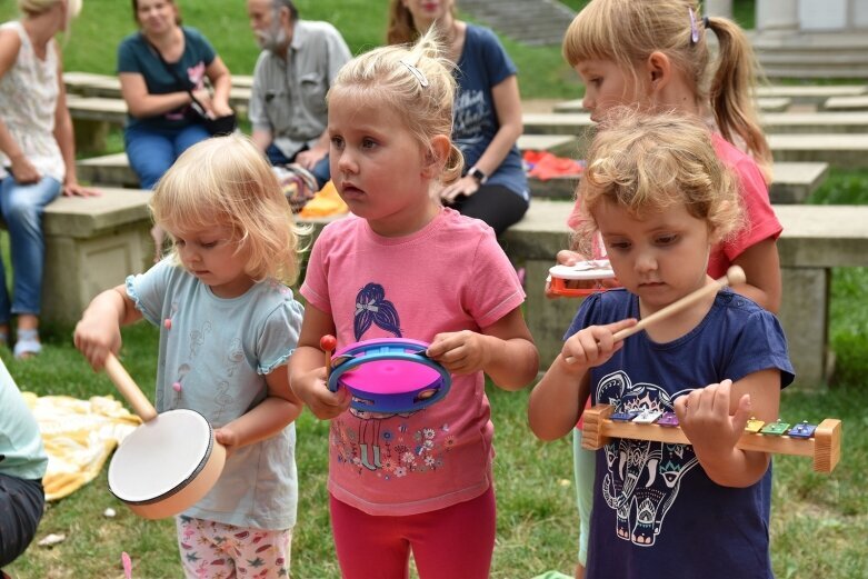
[[[581,305],[567,336],[588,326],[639,318],[625,289]],[[794,379],[777,318],[730,290],[718,293],[687,335],[657,343],[638,332],[590,372],[591,402],[618,410],[672,411],[675,400],[724,379],[780,370]],[[708,478],[691,446],[613,439],[597,451],[588,579],[704,577],[770,579],[771,469],[747,488]]]

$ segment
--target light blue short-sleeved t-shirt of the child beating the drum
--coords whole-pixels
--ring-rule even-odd
[[[287,363],[298,346],[303,308],[276,281],[256,283],[238,298],[218,298],[167,258],[146,273],[128,277],[127,293],[160,328],[160,412],[189,408],[220,428],[266,398],[266,375]],[[172,388],[176,382],[180,391]],[[292,423],[272,438],[237,449],[213,489],[183,515],[257,529],[292,527],[298,502],[295,448]]]

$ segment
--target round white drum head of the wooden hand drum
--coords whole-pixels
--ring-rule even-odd
[[[193,410],[162,412],[123,439],[109,465],[109,490],[132,505],[156,502],[184,488],[211,453],[208,420]]]

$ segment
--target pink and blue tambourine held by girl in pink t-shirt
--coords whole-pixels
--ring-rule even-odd
[[[331,359],[329,390],[347,388],[350,406],[366,412],[413,412],[442,399],[452,378],[426,356],[428,343],[380,338],[351,343]]]

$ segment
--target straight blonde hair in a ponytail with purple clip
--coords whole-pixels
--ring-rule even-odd
[[[714,76],[707,28],[719,44]],[[588,59],[611,60],[631,71],[633,80],[638,80],[636,67],[656,51],[691,82],[698,102],[710,104],[720,134],[734,144],[744,141],[770,180],[771,150],[754,106],[759,66],[737,23],[719,17],[702,19],[696,0],[593,0],[563,37],[563,57],[571,67]]]

